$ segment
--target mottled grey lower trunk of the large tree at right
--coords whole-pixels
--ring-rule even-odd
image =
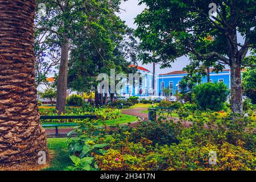
[[[231,109],[233,114],[243,114],[241,66],[234,64],[231,71]]]

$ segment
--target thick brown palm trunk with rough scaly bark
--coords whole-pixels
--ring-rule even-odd
[[[35,88],[35,0],[0,0],[0,166],[47,152]]]

